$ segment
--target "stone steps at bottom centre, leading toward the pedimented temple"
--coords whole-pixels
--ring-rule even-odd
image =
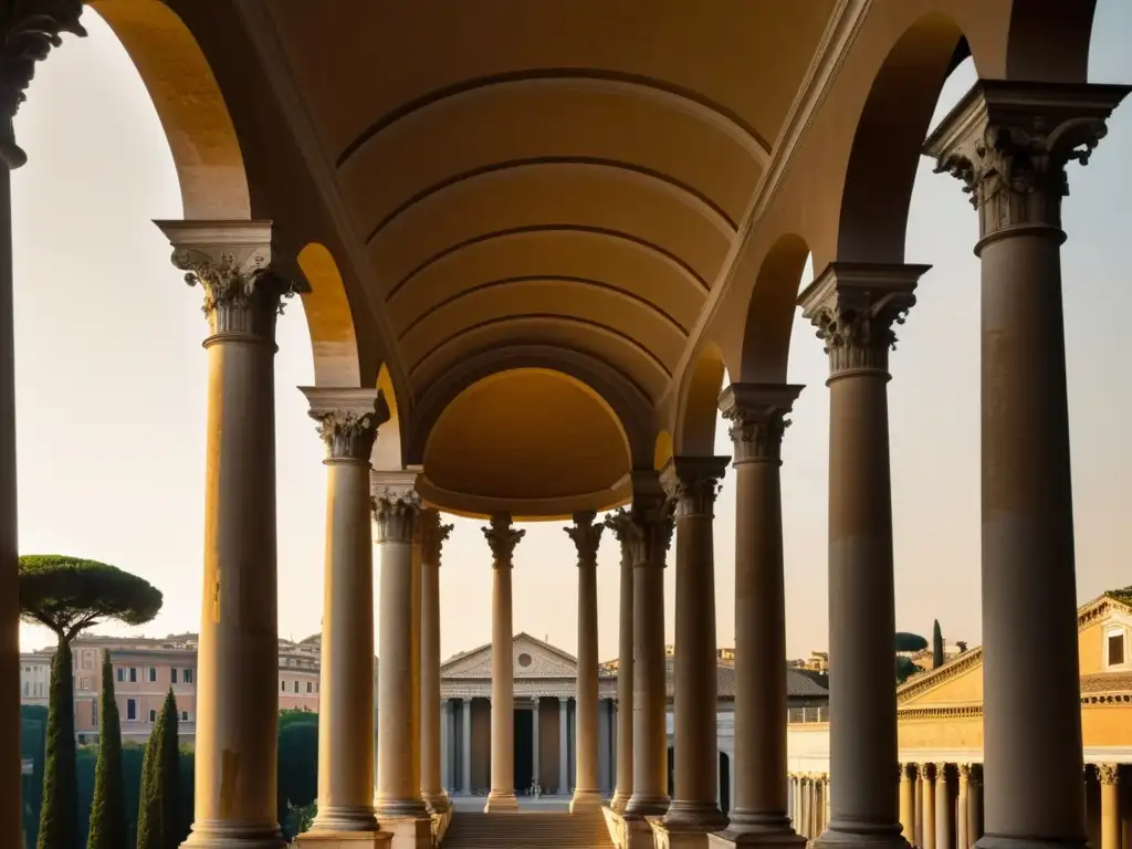
[[[444,849],[612,849],[600,811],[455,812]]]

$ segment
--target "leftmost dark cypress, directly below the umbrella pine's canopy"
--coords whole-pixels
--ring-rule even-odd
[[[78,773],[75,760],[75,679],[71,676],[70,641],[60,635],[55,657],[51,661],[38,849],[78,846]]]

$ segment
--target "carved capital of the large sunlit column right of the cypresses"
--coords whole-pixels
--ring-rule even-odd
[[[185,282],[204,290],[212,337],[274,344],[275,318],[294,286],[272,268],[269,221],[157,221]],[[212,337],[209,341],[212,341]],[[205,344],[208,344],[206,341]]]

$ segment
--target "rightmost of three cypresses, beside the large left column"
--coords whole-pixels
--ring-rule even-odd
[[[177,727],[177,700],[170,687],[142,762],[137,849],[177,849],[181,842]]]

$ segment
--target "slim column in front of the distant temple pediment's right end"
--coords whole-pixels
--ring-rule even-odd
[[[594,524],[593,511],[574,514],[574,525],[563,529],[577,549],[577,684],[575,717],[577,782],[569,809],[601,807],[598,783],[598,547],[604,525]]]

